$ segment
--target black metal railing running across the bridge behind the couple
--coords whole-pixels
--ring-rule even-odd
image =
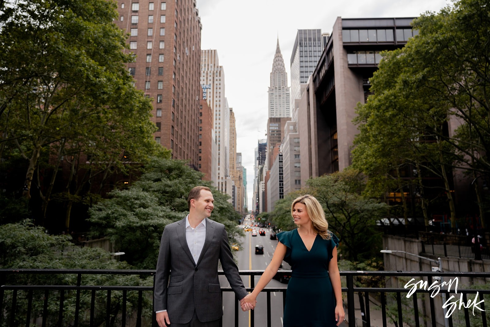
[[[240,275],[252,277],[248,291],[254,287],[253,277],[263,272],[240,271]],[[383,327],[489,324],[486,312],[480,309],[485,310],[485,300],[490,299],[486,286],[490,273],[343,271],[341,278],[346,286],[342,288],[346,323],[351,327],[380,326],[372,324],[375,314],[381,316]],[[58,284],[42,283],[43,280]],[[103,285],[95,285],[94,280]],[[0,326],[156,326],[152,310],[153,270],[3,269],[0,284]],[[229,287],[221,290],[232,291]],[[407,297],[410,290],[414,293]],[[249,325],[270,327],[271,292],[281,292],[284,303],[285,291],[286,287],[265,288],[267,317],[258,318],[251,311]],[[434,295],[436,291],[438,294]],[[373,301],[379,308],[374,308]],[[444,303],[449,303],[445,310]],[[451,308],[455,308],[454,312],[444,321],[444,314]],[[237,301],[235,327],[239,326],[240,310]],[[34,323],[36,317],[38,321]]]

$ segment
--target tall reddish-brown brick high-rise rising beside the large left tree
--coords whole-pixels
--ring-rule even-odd
[[[153,99],[155,141],[198,167],[201,22],[195,0],[122,0],[135,86]]]

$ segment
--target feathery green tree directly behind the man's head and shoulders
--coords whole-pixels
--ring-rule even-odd
[[[90,209],[92,236],[109,237],[135,267],[154,269],[163,229],[186,217],[189,191],[204,185],[212,189],[215,200],[211,219],[224,224],[230,243],[237,243],[237,237],[244,235],[237,227],[240,214],[229,197],[201,180],[202,176],[185,161],[153,158],[139,181],[111,192],[110,199]]]

